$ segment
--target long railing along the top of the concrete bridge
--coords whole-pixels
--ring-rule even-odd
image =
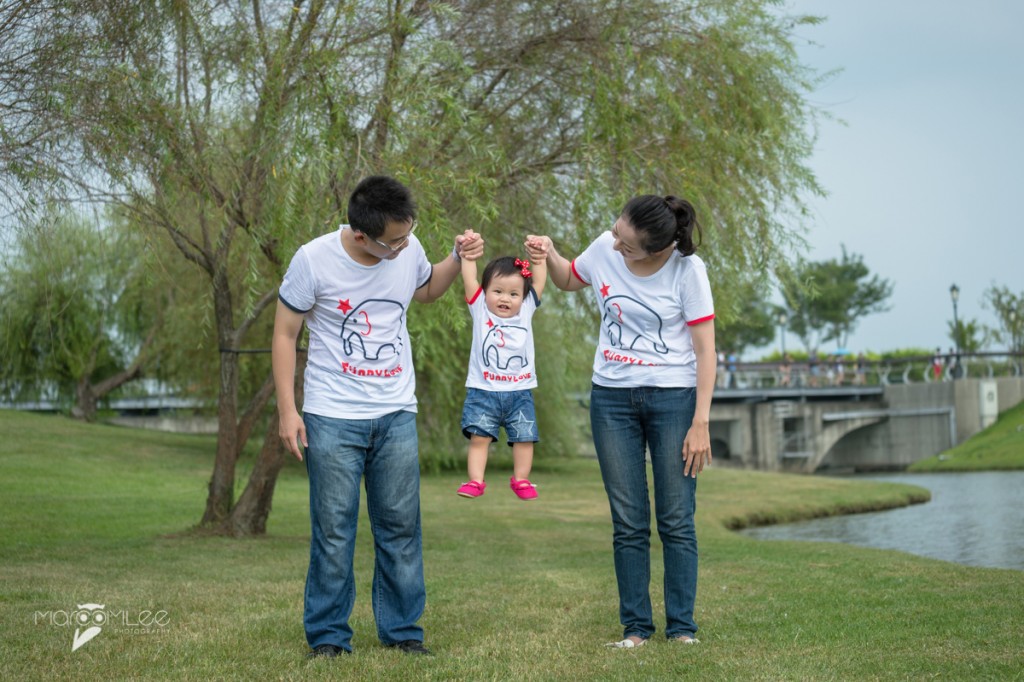
[[[842,368],[842,369],[841,369]],[[934,383],[964,378],[1024,376],[1024,352],[986,351],[941,355],[893,357],[861,360],[845,355],[842,359],[821,358],[790,364],[724,363],[719,365],[718,389],[729,388],[815,388],[909,383]]]

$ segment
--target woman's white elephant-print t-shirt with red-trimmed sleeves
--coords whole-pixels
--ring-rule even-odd
[[[649,276],[633,274],[604,232],[572,261],[601,313],[594,383],[609,388],[696,386],[689,327],[715,317],[708,270],[697,256],[674,251]]]

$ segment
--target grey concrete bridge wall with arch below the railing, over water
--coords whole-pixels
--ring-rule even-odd
[[[963,442],[1024,399],[1024,378],[825,388],[716,388],[716,464],[764,471],[899,470]]]

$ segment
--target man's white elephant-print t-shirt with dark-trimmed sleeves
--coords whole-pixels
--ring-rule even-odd
[[[336,419],[416,412],[407,314],[432,266],[415,235],[393,260],[357,263],[343,229],[302,246],[281,285],[281,301],[309,328],[302,411]]]

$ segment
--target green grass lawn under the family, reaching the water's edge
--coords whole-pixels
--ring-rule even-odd
[[[352,656],[307,662],[302,590],[305,476],[282,474],[267,537],[187,529],[212,467],[209,437],[0,412],[0,677],[3,680],[806,680],[1021,679],[1024,573],[831,543],[762,542],[728,529],[921,499],[882,482],[712,469],[698,485],[701,644],[622,634],[610,522],[597,465],[541,462],[541,494],[501,484],[455,495],[423,480],[430,657],[377,641],[364,517]],[[660,601],[653,542],[652,596]],[[103,604],[109,622],[72,652],[60,613]],[[40,616],[39,614],[46,614]],[[56,613],[56,615],[54,614]],[[664,623],[658,624],[659,627]]]

